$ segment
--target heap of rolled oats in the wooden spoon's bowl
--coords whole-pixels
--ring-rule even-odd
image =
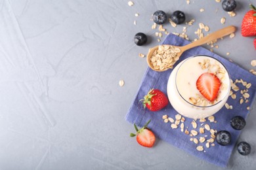
[[[172,69],[175,62],[179,59],[177,57],[179,52],[181,52],[181,49],[175,46],[160,45],[158,50],[153,52],[150,61],[156,70]]]

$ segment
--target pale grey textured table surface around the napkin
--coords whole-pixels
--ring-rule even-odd
[[[138,54],[166,36],[158,42],[158,30],[151,28],[156,10],[168,16],[182,10],[186,22],[195,19],[191,26],[163,25],[169,33],[187,27],[190,41],[200,22],[209,33],[235,25],[236,36],[212,49],[250,70],[256,69],[250,65],[255,37],[240,31],[249,3],[256,1],[237,0],[234,17],[215,0],[133,2],[0,1],[0,169],[223,169],[159,139],[153,148],[139,146],[129,137],[134,129],[125,114],[148,67]],[[146,45],[134,44],[138,32],[148,35]],[[255,107],[239,139],[249,141],[252,152],[241,156],[234,149],[226,169],[256,167]]]

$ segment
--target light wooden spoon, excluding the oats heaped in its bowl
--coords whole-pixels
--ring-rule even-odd
[[[202,44],[205,44],[207,42],[213,41],[215,39],[219,39],[221,37],[224,37],[226,35],[229,35],[230,33],[234,33],[234,31],[236,31],[236,27],[230,25],[228,27],[224,27],[223,29],[219,29],[218,31],[215,31],[205,37],[203,37],[202,39],[199,39],[198,41],[194,41],[190,44],[187,44],[185,46],[172,46],[172,45],[161,45],[161,46],[169,46],[169,48],[174,47],[174,48],[179,48],[180,52],[177,53],[177,56],[175,57],[175,61],[176,62],[180,57],[181,54],[190,49],[190,48],[194,48],[196,46],[200,46]],[[158,50],[159,46],[154,46],[153,48],[150,48],[148,51],[148,55],[147,55],[147,61],[148,61],[148,65],[151,69],[153,69],[154,71],[166,71],[167,69],[172,69],[172,67],[165,67],[163,69],[154,69],[153,63],[152,61],[150,61],[150,58],[152,57],[152,54],[154,53],[155,50]],[[174,64],[174,63],[173,63]]]

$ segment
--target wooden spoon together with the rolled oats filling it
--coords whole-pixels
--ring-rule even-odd
[[[173,69],[173,65],[176,61],[179,60],[181,54],[189,50],[190,48],[194,48],[196,46],[200,46],[207,42],[214,41],[215,39],[219,39],[226,35],[230,35],[230,33],[234,33],[236,31],[236,27],[230,25],[228,27],[224,27],[223,29],[219,29],[198,41],[191,42],[185,46],[173,46],[168,44],[163,44],[159,46],[154,46],[150,48],[147,55],[147,62],[151,69],[154,71],[166,71],[167,69]]]

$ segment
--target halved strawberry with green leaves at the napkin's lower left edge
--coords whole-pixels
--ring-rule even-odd
[[[151,148],[156,141],[156,137],[154,133],[146,127],[149,123],[150,120],[141,129],[138,129],[136,124],[134,124],[137,133],[130,133],[130,137],[137,136],[137,143],[139,143],[141,146]]]

